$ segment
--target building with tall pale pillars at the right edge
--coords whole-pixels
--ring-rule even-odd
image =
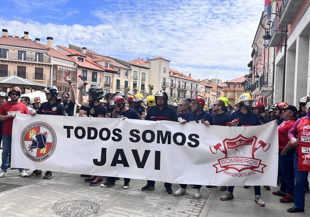
[[[299,99],[310,95],[310,0],[288,0],[278,4],[279,10],[275,8],[274,11],[277,11],[280,17],[275,20],[277,29],[273,32],[269,45],[275,50],[274,102],[284,99],[298,108]],[[285,45],[285,33],[281,31],[285,30],[285,27],[286,54],[285,47],[281,47]]]

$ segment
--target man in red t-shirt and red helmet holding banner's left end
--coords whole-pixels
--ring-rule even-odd
[[[9,164],[9,153],[12,144],[12,125],[13,119],[17,113],[29,114],[25,104],[18,102],[21,95],[21,90],[18,86],[14,86],[8,93],[11,101],[3,103],[0,106],[0,121],[3,121],[2,128],[2,165],[0,170],[0,178],[7,175],[7,166]],[[22,177],[28,176],[24,169],[19,168]]]

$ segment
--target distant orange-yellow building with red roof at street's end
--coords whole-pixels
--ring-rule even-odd
[[[235,107],[238,97],[243,93],[243,86],[241,83],[244,81],[245,76],[235,78],[226,82],[226,87],[223,89],[224,97],[228,99],[228,103]]]

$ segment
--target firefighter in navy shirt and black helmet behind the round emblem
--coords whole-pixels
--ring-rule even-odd
[[[57,87],[49,85],[43,90],[43,92],[45,92],[47,102],[41,104],[37,114],[66,115],[64,105],[61,104],[61,99],[58,99],[59,92]],[[31,114],[33,115],[33,113]],[[28,178],[34,178],[37,176],[42,176],[42,170],[33,170],[32,174],[30,174]],[[47,171],[43,176],[43,179],[49,179],[52,176],[52,172]]]

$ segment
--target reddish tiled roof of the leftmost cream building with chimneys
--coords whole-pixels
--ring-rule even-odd
[[[31,39],[16,37],[0,37],[0,45],[47,50],[46,46],[44,47],[42,44],[32,41]]]

